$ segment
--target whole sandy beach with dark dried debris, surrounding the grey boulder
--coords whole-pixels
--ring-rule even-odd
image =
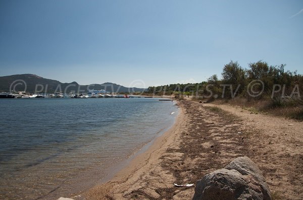
[[[275,199],[303,199],[302,122],[228,105],[190,100],[178,105],[172,128],[112,180],[82,196],[91,200],[191,199],[194,186],[174,183],[195,183],[234,158],[248,156],[260,167]]]

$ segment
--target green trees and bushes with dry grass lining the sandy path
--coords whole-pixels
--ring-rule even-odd
[[[249,110],[251,114],[271,113],[303,120],[303,76],[285,71],[286,64],[269,65],[251,62],[242,68],[237,61],[223,66],[222,78],[211,76],[206,82],[149,87],[154,95],[186,95],[193,100],[229,103]],[[215,110],[214,110],[215,111]]]

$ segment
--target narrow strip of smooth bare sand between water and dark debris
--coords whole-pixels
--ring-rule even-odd
[[[184,125],[184,111],[182,106],[178,106],[178,115],[175,118],[174,123],[169,127],[162,135],[156,137],[151,144],[144,145],[138,152],[132,155],[129,161],[123,164],[122,168],[119,167],[115,174],[103,179],[103,184],[95,185],[89,190],[83,193],[85,199],[108,199],[107,195],[112,193],[115,199],[125,199],[121,196],[117,187],[117,183],[123,183],[126,181],[136,182],[143,171],[150,168],[151,164],[154,164],[166,149],[174,143],[176,138],[180,135],[181,127]],[[148,170],[147,170],[148,171]],[[106,182],[107,181],[107,182]]]

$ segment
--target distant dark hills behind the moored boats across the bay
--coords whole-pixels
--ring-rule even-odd
[[[25,84],[26,83],[26,84]],[[26,87],[25,87],[26,85]],[[0,92],[25,91],[29,93],[85,93],[88,90],[107,90],[109,92],[143,92],[144,88],[127,88],[114,83],[79,85],[77,82],[61,83],[52,79],[45,79],[37,75],[22,74],[0,77]]]

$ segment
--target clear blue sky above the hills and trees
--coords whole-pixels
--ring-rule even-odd
[[[0,76],[148,87],[230,60],[303,74],[303,1],[0,1]]]

